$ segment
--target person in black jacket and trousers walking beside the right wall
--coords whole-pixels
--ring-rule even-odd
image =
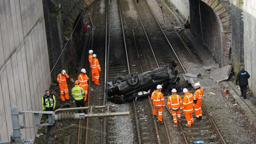
[[[240,72],[238,72],[237,77],[236,77],[236,84],[239,82],[239,86],[241,89],[241,95],[246,99],[246,90],[248,86],[248,78],[250,78],[250,74],[244,70],[244,67],[240,67]]]

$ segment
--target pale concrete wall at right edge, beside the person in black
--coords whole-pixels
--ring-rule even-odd
[[[244,62],[250,74],[249,86],[256,94],[256,1],[244,0]]]

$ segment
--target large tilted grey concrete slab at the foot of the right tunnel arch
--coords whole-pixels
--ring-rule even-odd
[[[216,82],[222,82],[224,80],[227,80],[230,75],[231,69],[231,65],[224,66],[223,68],[220,68],[212,72],[210,74],[210,78]]]

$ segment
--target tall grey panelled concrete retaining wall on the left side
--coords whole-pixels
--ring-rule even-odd
[[[0,0],[0,141],[10,140],[11,107],[42,110],[49,74],[42,0]],[[31,114],[26,125],[34,125]],[[36,132],[22,129],[22,138],[34,138]]]

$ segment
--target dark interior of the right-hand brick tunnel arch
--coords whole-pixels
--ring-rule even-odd
[[[212,58],[216,62],[220,62],[223,49],[222,24],[214,10],[202,1],[190,0],[190,23],[192,34],[198,39],[202,47],[211,54]]]

